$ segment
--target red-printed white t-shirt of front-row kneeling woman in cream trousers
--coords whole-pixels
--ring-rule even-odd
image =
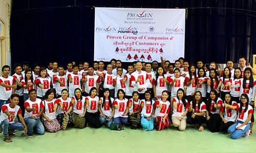
[[[182,114],[185,113],[185,110],[188,109],[189,104],[187,102],[187,99],[185,99],[186,101],[186,105],[184,106],[184,104],[182,103],[182,100],[179,100],[177,97],[174,97],[173,99],[173,103],[177,104],[177,108],[175,109],[173,106],[173,116],[177,116],[180,117]],[[183,118],[187,118],[187,115],[183,116]]]

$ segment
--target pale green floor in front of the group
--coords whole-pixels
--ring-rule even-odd
[[[73,129],[33,138],[16,132],[12,143],[0,141],[0,152],[255,152],[256,128],[249,138],[232,140],[229,134],[198,132],[193,126],[177,131],[172,125],[163,131]],[[4,138],[3,133],[0,134]]]

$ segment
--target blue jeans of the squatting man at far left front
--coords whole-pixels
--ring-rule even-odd
[[[0,127],[2,127],[5,137],[9,136],[8,130],[24,131],[24,126],[22,123],[9,123],[8,119],[3,120]]]

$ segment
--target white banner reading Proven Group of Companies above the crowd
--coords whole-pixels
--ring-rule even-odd
[[[94,60],[184,57],[185,9],[95,8]]]

